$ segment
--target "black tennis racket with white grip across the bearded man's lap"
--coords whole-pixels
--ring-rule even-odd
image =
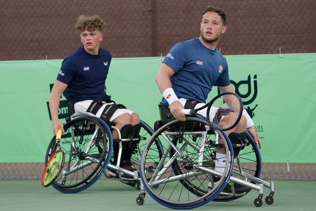
[[[206,117],[198,111],[205,109]],[[204,118],[216,130],[230,130],[234,128],[242,115],[242,101],[240,96],[232,92],[224,92],[214,97],[209,103],[198,109],[183,109],[185,115],[198,115]]]

